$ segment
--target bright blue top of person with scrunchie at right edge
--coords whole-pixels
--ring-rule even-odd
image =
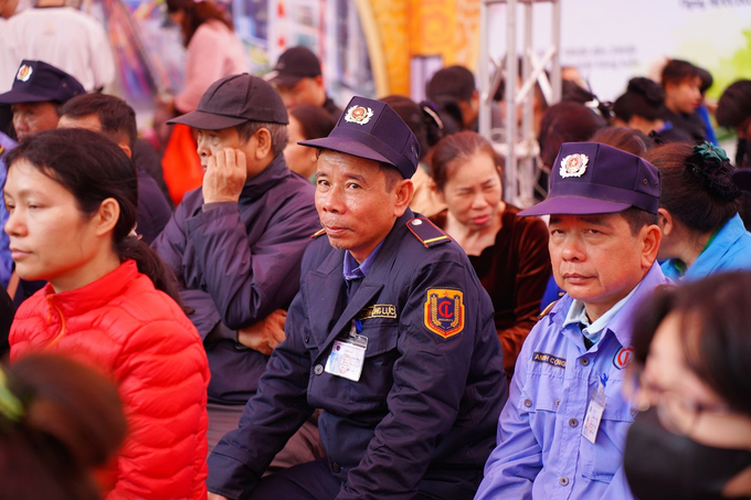
[[[681,275],[675,258],[663,263],[663,273],[674,281],[694,281],[706,276],[740,269],[751,269],[751,233],[736,214],[717,233],[715,240]]]

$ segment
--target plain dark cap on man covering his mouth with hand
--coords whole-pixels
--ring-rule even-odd
[[[289,117],[282,96],[268,82],[243,73],[211,84],[194,111],[168,124],[183,124],[202,130],[220,130],[245,121],[287,125]]]

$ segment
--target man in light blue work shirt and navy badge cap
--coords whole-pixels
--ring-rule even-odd
[[[659,172],[594,142],[563,143],[550,193],[550,258],[567,295],[519,354],[477,499],[631,499],[623,474],[636,409],[622,394],[639,302],[670,283],[655,263]]]

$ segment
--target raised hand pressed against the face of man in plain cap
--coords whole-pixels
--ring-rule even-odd
[[[237,203],[246,178],[244,152],[233,148],[218,151],[209,158],[207,173],[203,175],[203,202]]]

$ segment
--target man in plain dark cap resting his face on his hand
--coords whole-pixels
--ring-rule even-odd
[[[237,427],[284,336],[281,309],[297,294],[303,252],[320,224],[310,182],[284,161],[287,110],[263,78],[224,77],[172,123],[195,129],[205,174],[152,246],[177,274],[207,349],[211,449]],[[316,458],[319,447],[308,424],[276,465]]]

